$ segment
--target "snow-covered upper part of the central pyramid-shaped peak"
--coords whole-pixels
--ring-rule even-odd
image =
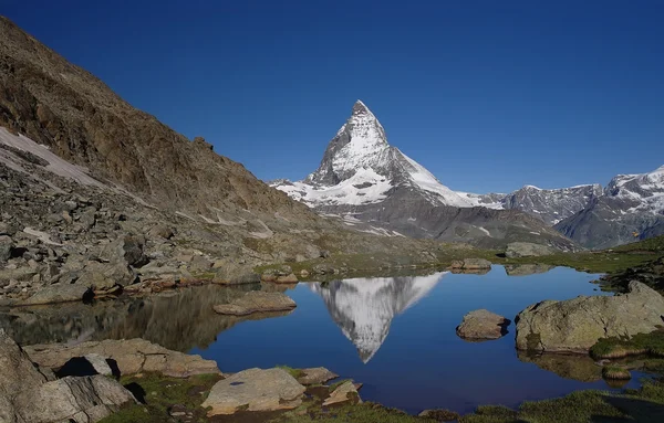
[[[474,205],[391,146],[362,101],[355,102],[351,117],[328,145],[318,170],[301,182],[274,187],[311,207],[372,204],[396,187],[417,190],[435,205]]]

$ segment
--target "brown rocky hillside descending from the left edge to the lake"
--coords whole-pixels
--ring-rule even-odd
[[[430,261],[439,246],[320,216],[1,17],[0,57],[0,305],[246,281],[321,250]]]

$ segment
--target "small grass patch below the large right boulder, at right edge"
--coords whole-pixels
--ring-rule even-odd
[[[594,359],[616,359],[644,353],[664,357],[664,330],[637,334],[630,339],[603,338],[590,349],[590,355]]]

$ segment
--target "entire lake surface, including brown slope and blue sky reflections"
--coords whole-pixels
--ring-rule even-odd
[[[542,299],[594,292],[596,275],[546,266],[494,266],[486,275],[352,278],[240,288],[204,286],[147,298],[0,310],[0,327],[20,343],[141,337],[217,360],[226,372],[277,364],[324,366],[364,383],[370,401],[416,413],[523,400],[578,389],[606,389],[588,357],[527,356],[515,350],[513,324],[498,340],[459,339],[456,326],[474,309],[510,319]],[[290,314],[230,317],[212,306],[250,289],[286,290]],[[278,317],[278,318],[273,318]],[[250,320],[250,321],[249,321]],[[630,385],[635,387],[639,373]]]

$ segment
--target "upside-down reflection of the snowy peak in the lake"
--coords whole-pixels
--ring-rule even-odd
[[[323,298],[332,319],[366,363],[383,345],[394,316],[425,297],[445,274],[356,278],[310,286]]]

